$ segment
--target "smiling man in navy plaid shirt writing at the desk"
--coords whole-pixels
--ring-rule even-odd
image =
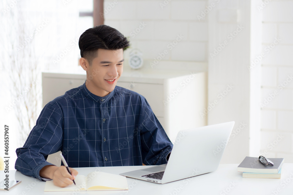
[[[65,187],[78,172],[46,162],[62,151],[69,167],[160,165],[173,144],[146,99],[116,86],[129,41],[116,29],[99,25],[79,38],[79,63],[86,82],[43,108],[18,156],[15,168]]]

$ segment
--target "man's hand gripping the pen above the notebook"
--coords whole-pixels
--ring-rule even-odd
[[[53,179],[53,183],[55,186],[59,187],[66,187],[70,184],[73,184],[73,181],[78,174],[78,171],[69,168],[71,174],[67,171],[65,166],[54,166],[54,165],[47,165],[40,170],[40,176]]]

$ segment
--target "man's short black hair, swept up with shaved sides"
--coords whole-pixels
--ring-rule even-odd
[[[97,57],[98,49],[125,49],[130,46],[129,41],[115,28],[107,25],[98,25],[84,31],[79,37],[80,56],[86,58],[91,65]]]

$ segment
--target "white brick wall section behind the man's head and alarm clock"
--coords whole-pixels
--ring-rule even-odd
[[[112,0],[105,1],[104,8],[111,3]],[[142,51],[143,68],[150,69],[150,62],[167,49],[168,54],[155,69],[164,69],[168,64],[168,69],[206,71],[207,17],[201,21],[197,19],[197,15],[206,9],[205,6],[206,0],[172,0],[168,4],[159,0],[119,0],[105,14],[104,23],[129,37],[131,48],[125,51],[125,59],[129,58],[129,52],[133,48]],[[176,43],[178,35],[183,38]],[[171,48],[170,43],[173,41],[176,45]],[[126,60],[126,66],[127,63]]]

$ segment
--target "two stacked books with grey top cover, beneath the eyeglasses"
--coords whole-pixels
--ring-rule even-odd
[[[261,163],[257,157],[246,156],[237,167],[237,171],[243,172],[244,178],[281,178],[281,169],[284,158],[269,158],[274,166]]]

